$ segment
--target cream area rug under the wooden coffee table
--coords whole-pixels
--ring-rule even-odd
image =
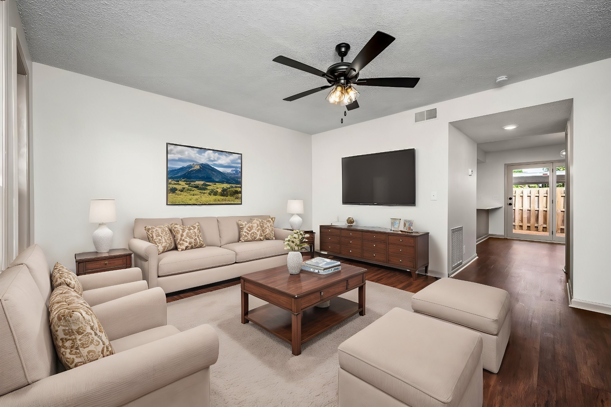
[[[365,315],[350,317],[305,342],[301,355],[254,323],[240,322],[240,286],[167,304],[167,323],[179,330],[210,324],[219,360],[210,367],[212,406],[337,406],[337,347],[392,308],[412,311],[412,293],[367,281]],[[357,302],[357,291],[340,297]],[[249,308],[265,304],[249,296]]]

